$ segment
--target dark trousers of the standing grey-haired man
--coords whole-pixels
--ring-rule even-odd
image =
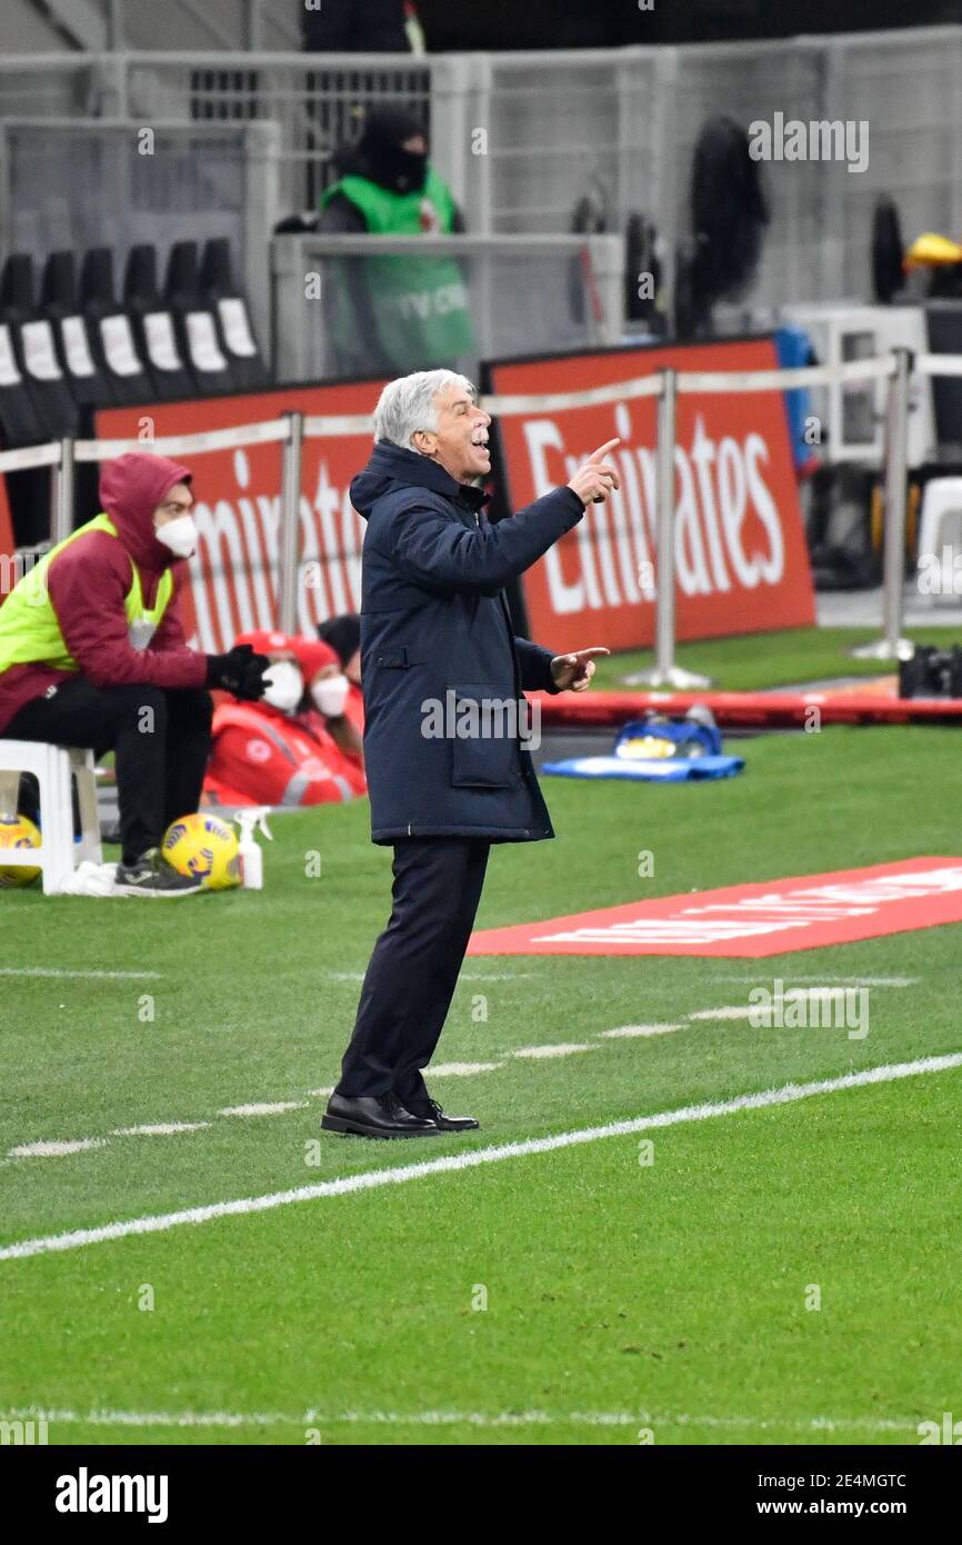
[[[338,1094],[394,1089],[426,1100],[434,1055],[485,882],[491,844],[477,837],[405,837],[394,848],[394,905],[364,975]]]

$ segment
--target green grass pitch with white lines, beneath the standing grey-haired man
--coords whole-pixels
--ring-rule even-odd
[[[493,853],[479,925],[960,851],[950,729],[738,749],[715,785],[545,779],[557,840]],[[261,895],[0,893],[0,1253],[962,1051],[962,925],[764,961],[483,956],[439,1061],[497,1066],[434,1082],[482,1131],[321,1134],[391,854],[361,803],[273,830]],[[777,976],[876,983],[869,1034],[687,1018]],[[681,1027],[604,1034],[649,1023]],[[551,1044],[584,1049],[516,1055]],[[0,1417],[54,1443],[917,1443],[959,1407],[960,1095],[942,1071],[0,1255]],[[45,1142],[91,1146],[11,1153]]]

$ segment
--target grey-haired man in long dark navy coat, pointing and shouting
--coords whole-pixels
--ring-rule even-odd
[[[321,1125],[366,1137],[477,1126],[422,1077],[437,1046],[493,842],[553,837],[523,691],[582,691],[594,655],[516,638],[503,587],[618,487],[602,445],[571,482],[491,524],[474,388],[451,371],[391,382],[375,450],[351,485],[368,521],[361,680],[374,842],[394,847],[394,907],[364,976],[341,1078]]]

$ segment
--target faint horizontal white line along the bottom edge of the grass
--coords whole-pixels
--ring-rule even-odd
[[[48,1421],[62,1426],[91,1428],[332,1428],[332,1426],[398,1426],[398,1428],[761,1428],[792,1432],[917,1432],[911,1417],[715,1417],[676,1415],[650,1411],[49,1411],[43,1406],[20,1406],[5,1412],[8,1421]]]

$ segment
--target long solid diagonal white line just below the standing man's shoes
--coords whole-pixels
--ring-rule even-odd
[[[156,1213],[147,1217],[131,1217],[127,1222],[102,1224],[99,1228],[74,1228],[66,1234],[45,1234],[39,1239],[20,1239],[0,1247],[0,1261],[17,1261],[25,1256],[49,1255],[59,1250],[79,1250],[82,1245],[105,1244],[111,1239],[127,1239],[131,1234],[159,1234],[181,1224],[207,1224],[215,1217],[236,1217],[246,1213],[267,1213],[292,1202],[315,1202],[323,1196],[346,1196],[352,1191],[371,1191],[383,1185],[403,1185],[428,1174],[451,1174],[459,1170],[476,1170],[483,1163],[500,1163],[503,1159],[527,1159],[530,1154],[554,1153],[559,1148],[574,1148],[596,1143],[602,1137],[630,1137],[658,1126],[678,1126],[684,1122],[704,1122],[712,1115],[733,1115],[737,1111],[758,1111],[771,1105],[791,1105],[815,1094],[834,1094],[837,1089],[859,1089],[871,1083],[891,1083],[896,1078],[913,1078],[917,1074],[947,1072],[962,1068],[962,1052],[943,1057],[920,1057],[911,1063],[886,1063],[866,1068],[862,1072],[846,1072],[838,1078],[820,1078],[815,1083],[788,1083],[781,1089],[763,1089],[757,1094],[740,1094],[732,1100],[684,1105],[676,1111],[659,1111],[655,1115],[636,1115],[628,1122],[611,1122],[608,1126],[584,1126],[573,1132],[556,1132],[553,1137],[530,1137],[522,1143],[503,1143],[500,1148],[473,1148],[425,1163],[395,1165],[391,1170],[364,1170],[360,1174],[343,1176],[338,1180],[320,1180],[317,1185],[301,1185],[292,1191],[272,1191],[267,1196],[246,1196],[232,1202],[210,1202],[205,1207],[188,1207],[181,1213]]]

